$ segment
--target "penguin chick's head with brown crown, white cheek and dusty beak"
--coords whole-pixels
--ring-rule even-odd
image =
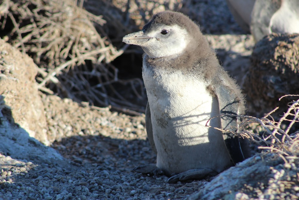
[[[164,11],[155,14],[141,31],[124,36],[123,42],[141,46],[151,58],[161,58],[185,52],[194,34],[201,32],[189,17]]]

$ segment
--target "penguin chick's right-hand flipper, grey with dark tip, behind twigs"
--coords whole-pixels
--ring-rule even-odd
[[[220,115],[238,115],[240,112],[243,112],[242,110],[240,111],[240,109],[242,109],[241,107],[244,105],[228,86],[223,84],[218,85],[215,88],[215,92],[219,102]],[[236,164],[245,160],[239,138],[235,134],[238,130],[238,122],[240,119],[236,116],[221,116],[220,118],[221,128],[225,130],[225,132],[222,133],[224,143],[232,161]]]

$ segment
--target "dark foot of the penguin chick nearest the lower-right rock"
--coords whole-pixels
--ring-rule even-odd
[[[178,181],[185,181],[188,179],[200,180],[205,178],[206,176],[215,176],[218,172],[214,171],[210,168],[203,169],[190,169],[186,172],[179,173],[174,175],[168,179],[168,183],[176,183]]]

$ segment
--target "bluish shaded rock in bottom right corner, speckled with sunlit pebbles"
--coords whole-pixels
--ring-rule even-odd
[[[260,156],[263,160],[255,159]],[[283,163],[278,154],[255,155],[220,173],[187,200],[269,199],[269,195],[275,199],[281,196],[285,197],[283,199],[296,198],[294,190],[298,180],[295,177],[299,169],[293,163],[294,167],[288,171],[282,167]],[[291,180],[294,181],[292,185]]]

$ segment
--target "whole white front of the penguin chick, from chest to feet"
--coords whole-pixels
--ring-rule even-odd
[[[222,133],[206,127],[209,118],[219,115],[216,97],[204,82],[181,73],[159,70],[153,77],[143,70],[151,112],[157,167],[168,174],[189,169],[211,168],[221,172],[232,165]],[[220,127],[220,118],[210,125]]]

